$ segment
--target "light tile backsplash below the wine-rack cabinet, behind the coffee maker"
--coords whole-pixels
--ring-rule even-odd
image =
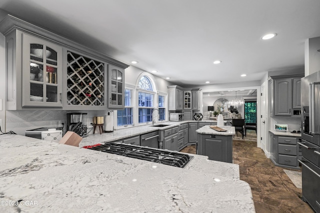
[[[62,110],[17,110],[6,111],[5,132],[13,131],[18,135],[25,134],[26,130],[40,127],[62,127],[66,128],[66,113],[87,113],[87,126],[90,125],[95,116],[104,116],[108,111],[62,111]],[[90,128],[88,128],[88,131]],[[3,130],[2,130],[3,131]],[[89,133],[92,134],[92,131]]]

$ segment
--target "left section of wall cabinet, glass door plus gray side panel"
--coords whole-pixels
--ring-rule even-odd
[[[13,29],[6,42],[6,109],[62,107],[62,48]]]

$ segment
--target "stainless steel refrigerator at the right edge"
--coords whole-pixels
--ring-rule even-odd
[[[302,199],[320,213],[320,71],[301,78]]]

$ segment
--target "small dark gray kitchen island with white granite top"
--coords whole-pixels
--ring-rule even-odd
[[[197,129],[198,142],[196,154],[208,156],[209,160],[232,163],[233,126],[218,127],[223,132],[211,129],[209,125]]]

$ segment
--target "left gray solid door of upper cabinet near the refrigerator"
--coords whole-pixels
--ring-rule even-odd
[[[274,115],[291,116],[292,79],[276,79],[274,86]]]

